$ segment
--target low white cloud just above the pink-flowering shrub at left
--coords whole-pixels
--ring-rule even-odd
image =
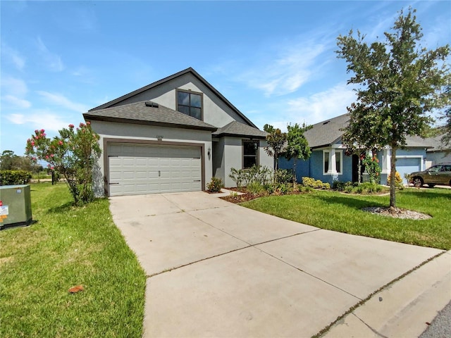
[[[25,114],[8,114],[6,118],[15,125],[31,125],[32,130],[44,128],[47,131],[56,132],[67,127],[69,122],[61,119],[61,114],[49,113],[44,110],[35,110]]]

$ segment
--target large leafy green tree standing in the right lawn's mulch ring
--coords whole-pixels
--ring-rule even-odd
[[[450,73],[446,58],[450,46],[427,50],[416,11],[400,15],[385,41],[367,44],[365,35],[352,30],[338,37],[338,57],[347,61],[348,84],[356,85],[357,101],[347,108],[356,142],[365,149],[390,146],[390,207],[396,207],[396,151],[406,137],[424,135],[433,122],[431,112],[443,108]]]

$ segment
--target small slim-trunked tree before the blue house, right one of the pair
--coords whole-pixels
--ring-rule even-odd
[[[296,163],[297,160],[307,160],[310,157],[311,150],[309,142],[304,136],[304,132],[309,130],[311,125],[303,123],[299,125],[288,125],[287,129],[287,146],[285,147],[284,156],[290,161],[293,158],[293,180],[296,183]]]

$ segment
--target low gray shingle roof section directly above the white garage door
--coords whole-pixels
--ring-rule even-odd
[[[154,106],[147,106],[146,102],[149,101],[89,111],[84,113],[83,116],[85,120],[160,125],[183,129],[209,130],[211,132],[218,129],[213,125],[197,120],[197,118],[192,118],[165,106],[156,106],[155,104]]]

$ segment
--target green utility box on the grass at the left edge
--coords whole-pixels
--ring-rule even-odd
[[[0,187],[0,230],[32,221],[30,185]]]

